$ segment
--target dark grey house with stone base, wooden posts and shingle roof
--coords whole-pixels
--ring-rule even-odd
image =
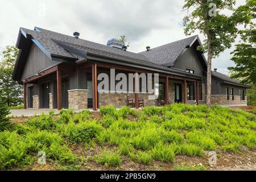
[[[78,32],[73,35],[39,27],[34,30],[20,28],[13,79],[24,85],[25,108],[97,110],[105,105],[125,106],[128,101],[135,107],[141,106],[141,101],[144,106],[161,101],[165,104],[205,103],[207,61],[197,50],[201,45],[198,36],[133,53],[117,39],[110,39],[105,46],[80,39]],[[148,88],[143,91],[139,82],[142,78],[136,76],[135,82],[139,84],[135,85],[139,92],[128,89],[134,83],[122,88],[126,89],[122,92],[116,92],[111,85],[106,86],[110,92],[100,92],[98,85],[103,80],[98,76],[104,73],[112,77],[113,69],[114,76],[145,73],[149,80],[150,74],[158,75],[158,93],[155,94],[159,99],[148,99],[151,93]],[[216,69],[212,73],[212,104],[246,105],[248,85],[242,85]]]

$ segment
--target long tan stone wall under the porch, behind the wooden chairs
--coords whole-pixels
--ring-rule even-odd
[[[144,100],[144,106],[155,105],[155,100],[148,100],[148,93],[139,93],[139,100]],[[98,105],[99,107],[113,105],[120,108],[127,106],[127,97],[129,100],[134,100],[134,93],[98,93]]]

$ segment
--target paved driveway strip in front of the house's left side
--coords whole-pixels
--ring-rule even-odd
[[[49,111],[52,109],[12,109],[10,110],[9,115],[13,115],[15,117],[21,117],[21,116],[33,116],[33,115],[40,115],[42,113],[49,114]],[[54,110],[55,114],[59,113],[58,110]]]

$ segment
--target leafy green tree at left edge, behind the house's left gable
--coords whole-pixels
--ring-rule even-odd
[[[7,46],[3,51],[3,60],[0,62],[0,98],[7,106],[22,103],[23,86],[12,78],[18,49]]]

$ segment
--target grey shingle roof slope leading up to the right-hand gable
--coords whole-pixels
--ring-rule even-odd
[[[197,35],[191,36],[186,39],[152,48],[150,51],[140,52],[139,54],[146,56],[148,61],[152,63],[158,63],[160,65],[174,64],[177,57],[179,57],[183,50],[189,46],[196,38]]]

